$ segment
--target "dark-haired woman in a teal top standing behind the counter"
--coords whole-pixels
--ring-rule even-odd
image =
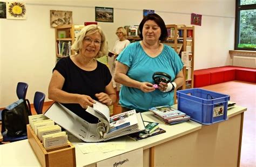
[[[183,63],[169,46],[160,43],[167,38],[164,20],[154,13],[148,14],[139,25],[142,41],[131,43],[117,58],[114,79],[122,84],[119,103],[122,111],[137,112],[162,105],[173,105],[173,90],[183,85]],[[154,72],[165,72],[171,82],[153,87]]]

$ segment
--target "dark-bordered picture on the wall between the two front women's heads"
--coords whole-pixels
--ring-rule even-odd
[[[95,7],[95,21],[114,22],[114,9],[105,7]]]

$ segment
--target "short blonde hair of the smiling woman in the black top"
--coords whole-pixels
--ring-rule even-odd
[[[102,57],[104,55],[107,55],[107,43],[106,43],[106,37],[105,34],[102,31],[102,28],[100,28],[98,25],[91,24],[87,25],[79,32],[77,39],[73,43],[71,49],[75,51],[76,53],[79,53],[79,50],[83,47],[83,40],[87,35],[94,34],[96,32],[99,32],[99,34],[102,36],[102,44],[100,45],[99,52],[95,56],[95,58]]]

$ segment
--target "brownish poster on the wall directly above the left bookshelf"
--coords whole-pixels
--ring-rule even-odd
[[[50,10],[51,27],[73,23],[72,11]]]

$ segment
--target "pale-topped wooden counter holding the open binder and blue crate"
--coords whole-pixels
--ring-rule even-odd
[[[96,166],[96,162],[143,148],[144,166],[239,166],[244,111],[245,107],[235,106],[228,110],[228,120],[212,125],[189,121],[169,126],[161,122],[166,133],[140,141],[127,136],[110,141],[125,141],[125,150],[82,154],[75,145],[76,164]],[[143,113],[143,119],[159,122],[151,112]],[[28,140],[0,146],[0,166],[7,165],[40,166]]]

